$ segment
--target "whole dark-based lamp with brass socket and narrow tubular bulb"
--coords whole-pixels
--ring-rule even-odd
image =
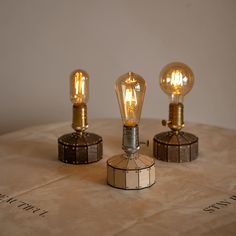
[[[75,70],[70,77],[70,99],[73,103],[72,128],[75,132],[58,138],[58,159],[69,164],[88,164],[99,161],[103,154],[102,137],[88,133],[87,105],[89,75]]]

